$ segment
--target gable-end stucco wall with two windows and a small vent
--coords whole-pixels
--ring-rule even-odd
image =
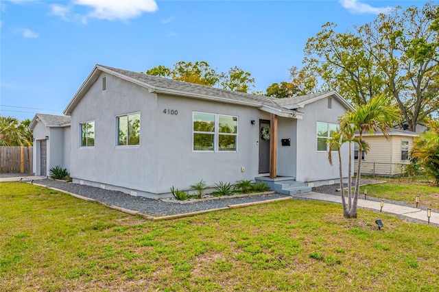
[[[71,115],[71,176],[156,193],[156,95],[147,89],[102,74]],[[140,145],[116,146],[116,117],[141,112]],[[80,123],[95,122],[95,146],[80,147]]]

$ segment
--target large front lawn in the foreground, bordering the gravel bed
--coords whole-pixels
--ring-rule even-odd
[[[384,229],[377,230],[381,219]],[[147,221],[0,184],[0,291],[437,291],[439,228],[288,200]]]

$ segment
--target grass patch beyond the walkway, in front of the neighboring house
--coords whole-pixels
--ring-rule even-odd
[[[403,201],[407,204],[416,205],[416,195],[420,195],[418,206],[439,210],[439,186],[428,182],[414,182],[410,178],[383,178],[383,184],[370,184],[361,186],[361,194],[364,188],[368,188],[368,195],[379,199]]]

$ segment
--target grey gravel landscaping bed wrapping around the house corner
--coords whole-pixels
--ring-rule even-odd
[[[42,184],[52,188],[58,188],[62,191],[75,193],[99,202],[126,208],[141,212],[143,214],[157,216],[184,214],[202,210],[211,210],[217,208],[226,208],[229,205],[246,204],[252,202],[261,202],[269,199],[279,199],[289,197],[278,193],[270,195],[254,195],[250,197],[235,197],[230,199],[215,199],[207,202],[198,202],[193,204],[174,204],[163,202],[158,199],[149,199],[145,197],[134,197],[120,191],[109,191],[95,186],[86,186],[81,184],[73,184],[60,182],[57,180],[38,180],[35,184]]]

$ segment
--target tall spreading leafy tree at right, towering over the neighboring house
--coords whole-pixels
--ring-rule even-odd
[[[399,106],[409,130],[439,108],[439,8],[425,3],[389,14],[353,31],[327,23],[309,38],[305,69],[355,105],[384,93]]]

